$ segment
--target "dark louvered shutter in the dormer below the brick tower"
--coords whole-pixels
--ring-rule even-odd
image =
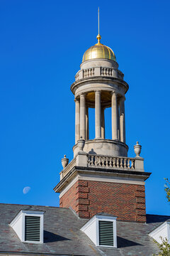
[[[113,246],[113,222],[98,221],[99,225],[99,245]]]

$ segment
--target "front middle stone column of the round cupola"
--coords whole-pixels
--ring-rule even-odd
[[[101,92],[95,92],[95,132],[96,139],[101,138]]]

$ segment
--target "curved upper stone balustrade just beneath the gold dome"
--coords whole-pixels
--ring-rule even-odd
[[[91,78],[94,76],[106,76],[112,78],[120,78],[123,80],[123,73],[115,68],[102,68],[102,67],[94,67],[79,70],[79,72],[75,75],[75,80],[80,80],[82,78]]]

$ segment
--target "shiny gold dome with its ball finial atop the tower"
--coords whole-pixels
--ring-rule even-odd
[[[98,34],[97,36],[98,43],[96,43],[94,46],[91,46],[88,50],[85,51],[82,62],[86,60],[92,60],[96,58],[105,58],[108,60],[115,60],[115,53],[113,53],[113,50],[108,47],[104,46],[101,41],[101,36]]]

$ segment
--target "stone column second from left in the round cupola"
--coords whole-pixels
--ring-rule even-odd
[[[80,95],[80,137],[86,139],[86,99],[85,95]]]

